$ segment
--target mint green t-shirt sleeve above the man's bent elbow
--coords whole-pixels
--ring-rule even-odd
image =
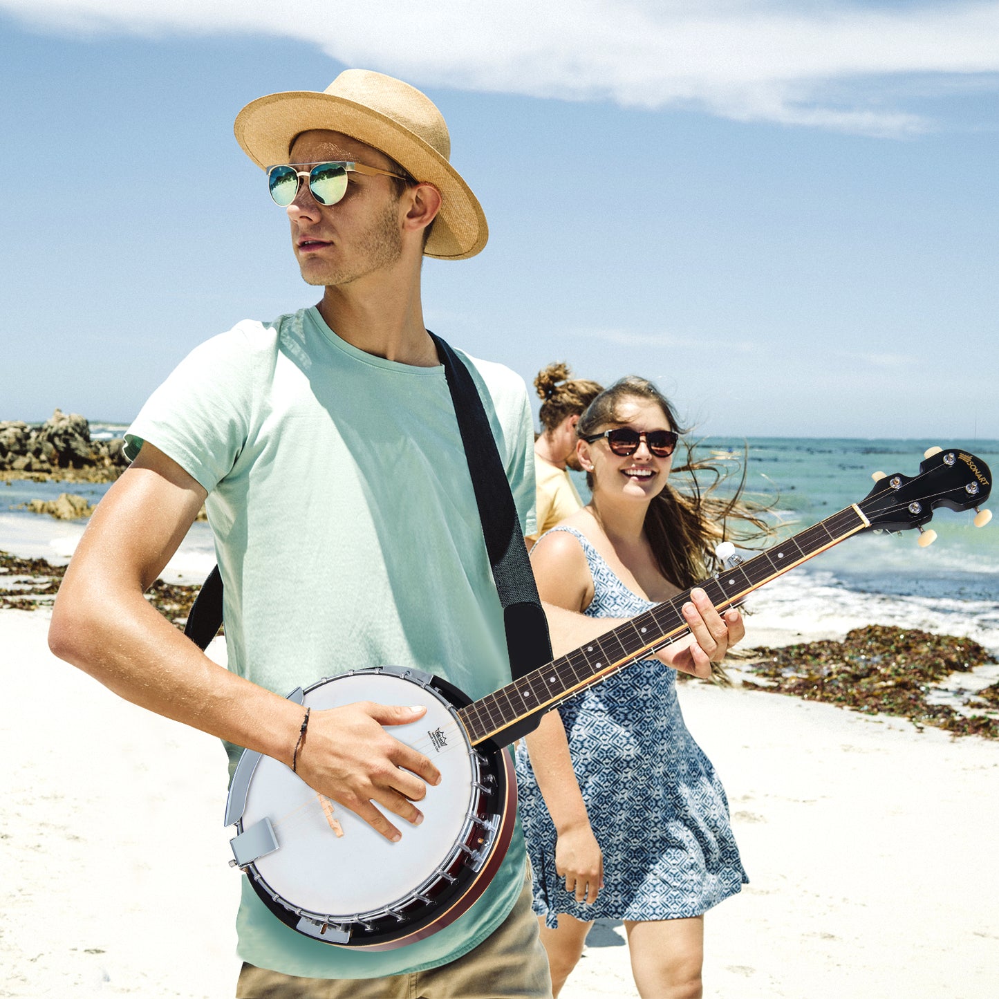
[[[259,350],[237,327],[196,347],[125,434],[134,461],[147,441],[211,493],[232,470],[255,410]]]

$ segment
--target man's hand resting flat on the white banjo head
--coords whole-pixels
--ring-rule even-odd
[[[375,804],[419,825],[424,816],[413,802],[423,800],[428,783],[441,782],[441,772],[423,753],[393,738],[383,726],[409,724],[426,713],[422,705],[371,701],[313,711],[299,750],[298,774],[314,790],[340,802],[395,843],[401,836],[399,829]]]

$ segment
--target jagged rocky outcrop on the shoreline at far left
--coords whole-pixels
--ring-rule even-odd
[[[56,410],[37,427],[17,420],[0,422],[0,473],[115,479],[128,465],[124,447],[121,440],[91,441],[83,417]]]

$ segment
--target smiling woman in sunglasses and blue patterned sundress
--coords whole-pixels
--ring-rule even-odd
[[[766,536],[761,507],[714,494],[724,477],[690,460],[673,470],[683,429],[654,385],[629,377],[598,395],[575,427],[591,500],[531,551],[546,604],[590,617],[628,618],[694,586],[713,568],[723,533]],[[714,476],[701,491],[694,475]],[[681,490],[670,472],[690,473]],[[743,477],[744,481],[744,477]],[[724,527],[722,526],[724,525]],[[691,631],[709,599],[683,604]],[[717,671],[744,634],[738,611],[704,613],[710,637],[674,667]],[[711,639],[717,642],[712,645]],[[725,792],[676,700],[675,669],[649,657],[583,690],[517,748],[520,818],[534,912],[558,995],[594,919],[624,922],[645,999],[702,994],[703,913],[747,881]]]

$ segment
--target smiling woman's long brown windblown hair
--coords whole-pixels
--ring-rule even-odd
[[[655,403],[672,430],[677,434],[686,433],[665,396],[646,379],[629,375],[605,389],[589,404],[576,425],[576,435],[582,438],[621,426],[623,421],[618,418],[617,411],[625,399]],[[742,547],[751,547],[751,542],[772,537],[774,527],[762,516],[771,504],[743,496],[744,459],[735,490],[730,496],[721,497],[716,495],[718,488],[732,478],[732,473],[714,462],[696,459],[694,445],[682,442],[682,447],[686,449],[686,460],[679,466],[674,460],[662,492],[648,504],[644,526],[659,571],[684,589],[700,582],[718,567],[714,554],[718,541],[733,540]],[[684,478],[676,489],[670,484],[678,476]],[[591,473],[586,475],[586,482],[592,489]]]

